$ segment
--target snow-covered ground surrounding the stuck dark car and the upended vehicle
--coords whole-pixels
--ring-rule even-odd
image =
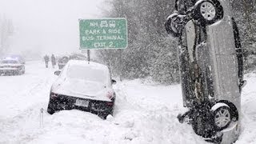
[[[176,116],[184,110],[180,86],[118,82],[114,118],[79,110],[46,113],[54,69],[27,62],[26,74],[0,77],[0,143],[206,143]],[[239,144],[256,143],[256,74],[246,76]],[[40,109],[43,108],[43,126]]]

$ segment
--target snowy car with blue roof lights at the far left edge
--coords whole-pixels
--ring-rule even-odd
[[[0,74],[25,74],[25,65],[18,58],[4,58],[0,62]]]

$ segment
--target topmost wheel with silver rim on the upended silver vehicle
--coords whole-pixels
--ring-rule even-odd
[[[210,25],[223,18],[223,7],[218,0],[202,0],[195,6],[194,19]]]

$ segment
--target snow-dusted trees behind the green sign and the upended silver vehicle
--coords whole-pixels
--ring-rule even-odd
[[[106,0],[106,18],[126,18],[126,50],[98,50],[98,58],[120,78],[150,78],[154,82],[179,82],[177,39],[166,34],[166,17],[173,13],[175,0]],[[244,50],[245,68],[256,64],[255,1],[230,0],[238,22]],[[106,6],[106,5],[104,5]],[[242,9],[241,9],[242,7]]]

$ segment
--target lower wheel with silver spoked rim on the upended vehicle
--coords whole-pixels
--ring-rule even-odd
[[[223,130],[230,125],[232,114],[229,106],[221,106],[214,110],[214,126],[217,130]]]

